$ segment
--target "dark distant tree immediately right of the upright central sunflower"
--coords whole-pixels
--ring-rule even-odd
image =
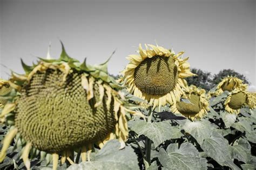
[[[194,86],[201,87],[207,91],[211,89],[211,73],[210,72],[204,72],[203,70],[197,69],[197,68],[192,68],[191,72],[194,74],[197,74],[197,76],[186,78],[188,86],[193,84]]]

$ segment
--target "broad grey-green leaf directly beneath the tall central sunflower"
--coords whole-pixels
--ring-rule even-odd
[[[172,126],[167,121],[147,123],[142,120],[136,120],[130,121],[129,123],[132,123],[132,131],[136,132],[139,136],[144,134],[153,141],[155,147],[159,146],[165,140],[177,139],[183,136],[178,128]]]

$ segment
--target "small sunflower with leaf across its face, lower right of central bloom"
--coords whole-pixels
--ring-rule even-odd
[[[171,111],[174,113],[180,113],[187,118],[200,119],[207,114],[209,110],[209,102],[206,97],[206,92],[204,89],[197,88],[196,86],[190,86],[190,90],[186,93],[186,96],[190,103],[180,101],[173,104]]]

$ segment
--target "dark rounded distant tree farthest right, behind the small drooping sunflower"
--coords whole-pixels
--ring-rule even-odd
[[[221,81],[221,79],[223,79],[224,77],[227,77],[228,75],[238,77],[239,79],[243,80],[244,83],[250,84],[250,82],[248,81],[245,75],[237,73],[233,69],[223,69],[223,70],[220,70],[218,74],[214,74],[211,80],[212,87],[214,87],[216,84],[218,84]]]

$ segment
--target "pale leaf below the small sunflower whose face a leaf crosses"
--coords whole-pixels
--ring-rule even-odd
[[[190,133],[201,145],[205,138],[208,138],[211,136],[211,133],[215,128],[210,122],[203,122],[203,121],[191,122],[187,120],[187,122],[183,126],[183,129],[187,133]]]

